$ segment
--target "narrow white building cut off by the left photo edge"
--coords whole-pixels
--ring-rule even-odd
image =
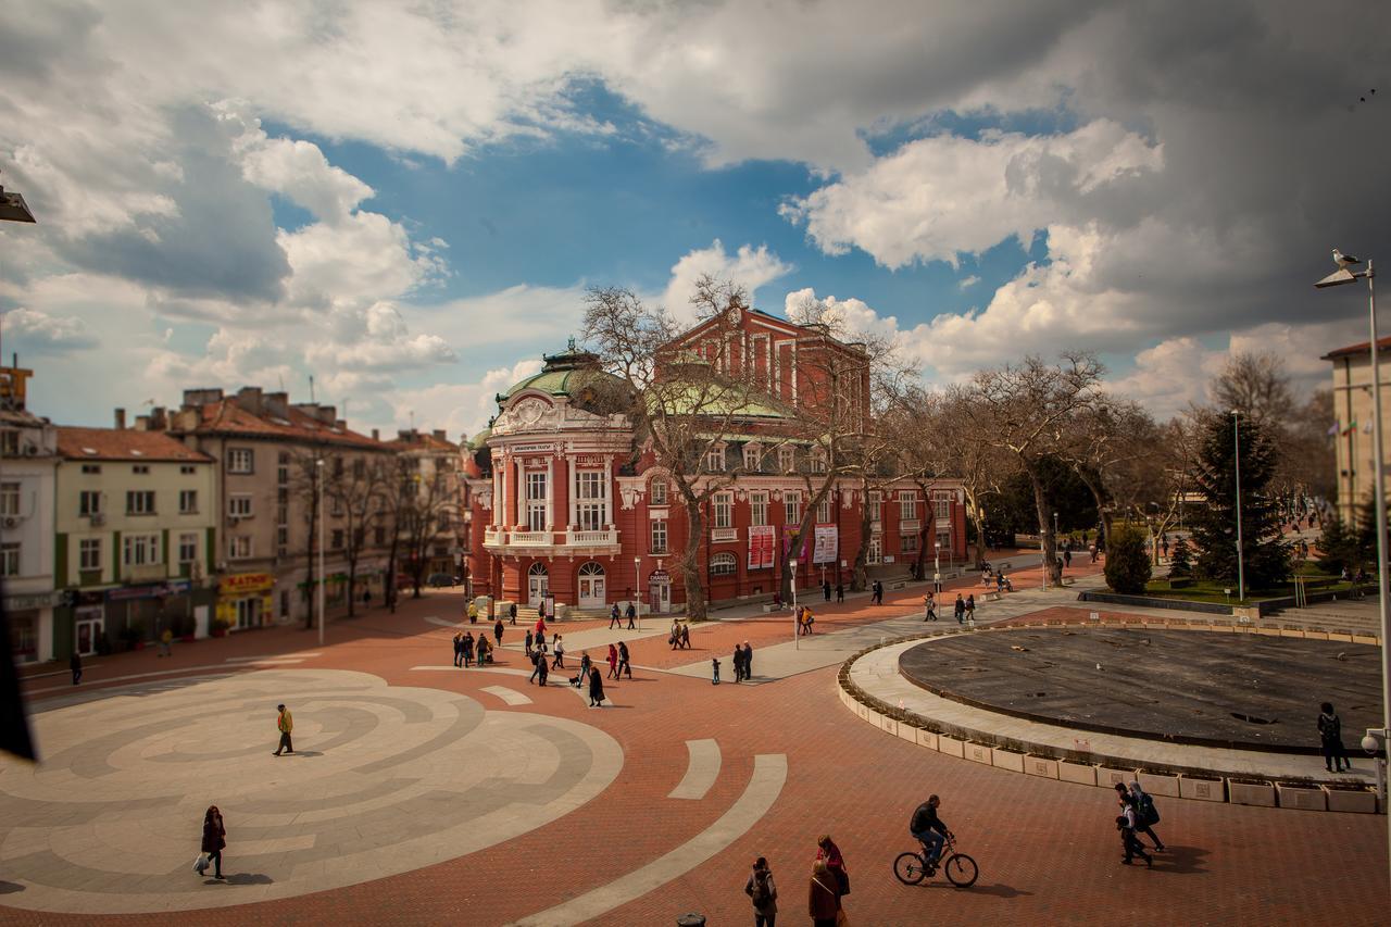
[[[10,650],[19,663],[54,656],[53,491],[57,431],[26,408],[32,370],[0,367],[0,583]]]

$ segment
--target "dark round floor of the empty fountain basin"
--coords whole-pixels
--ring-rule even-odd
[[[1021,628],[936,637],[899,670],[944,699],[1177,743],[1317,753],[1319,703],[1344,738],[1381,717],[1381,651],[1253,633]]]

